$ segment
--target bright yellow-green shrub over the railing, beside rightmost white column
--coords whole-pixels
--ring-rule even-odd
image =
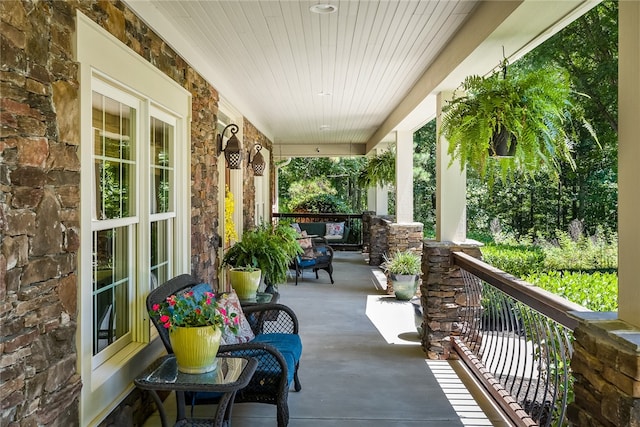
[[[593,311],[618,309],[618,276],[615,273],[549,271],[524,280]]]

